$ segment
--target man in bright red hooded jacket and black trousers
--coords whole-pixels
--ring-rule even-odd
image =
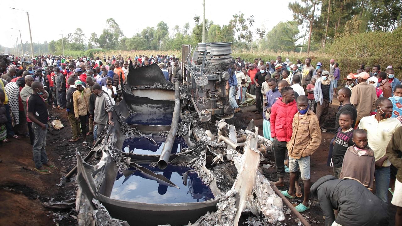
[[[293,116],[297,113],[294,91],[290,86],[281,89],[282,97],[271,107],[271,136],[274,139],[273,150],[275,155],[275,164],[277,167],[277,176],[279,180],[275,182],[276,186],[284,186],[283,177],[285,177],[285,157],[286,144],[292,137]]]

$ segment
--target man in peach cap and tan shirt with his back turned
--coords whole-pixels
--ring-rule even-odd
[[[361,72],[355,77],[358,84],[352,89],[351,103],[356,107],[356,125],[359,125],[360,119],[370,116],[377,95],[374,86],[367,83],[367,79],[370,77],[367,72]]]

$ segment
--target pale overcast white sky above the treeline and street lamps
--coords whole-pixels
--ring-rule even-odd
[[[294,0],[291,0],[292,2]],[[31,21],[32,41],[34,43],[60,39],[61,33],[74,33],[80,27],[90,37],[92,32],[98,36],[106,26],[107,18],[114,18],[125,37],[132,37],[146,27],[156,27],[159,21],[164,21],[169,32],[175,25],[183,28],[187,22],[190,29],[194,27],[193,17],[200,16],[202,20],[202,0],[173,0],[173,1],[80,1],[77,4],[69,2],[36,2],[20,0],[2,2],[2,17],[7,18],[6,29],[0,36],[0,45],[12,47],[20,39],[18,30],[21,30],[22,40],[29,42],[27,14],[9,7],[26,10]],[[117,6],[116,3],[124,2]],[[144,6],[144,2],[148,2]],[[280,21],[291,21],[293,16],[287,5],[289,0],[272,1],[266,4],[253,2],[250,6],[247,1],[240,0],[205,0],[205,18],[214,24],[227,24],[232,15],[243,12],[245,17],[254,15],[254,28],[260,27],[269,31]],[[118,8],[116,8],[118,7]],[[262,13],[258,13],[262,12]],[[12,29],[11,29],[12,28]],[[256,34],[254,33],[254,38]]]

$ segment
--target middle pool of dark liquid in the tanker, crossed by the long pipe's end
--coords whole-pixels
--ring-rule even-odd
[[[157,145],[147,138],[132,138],[127,139],[123,143],[123,152],[135,153],[135,154],[150,154],[155,155],[162,152],[166,138],[159,135],[148,136],[148,138],[154,140]],[[172,147],[171,154],[179,153],[182,148],[188,148],[183,138],[176,138]]]

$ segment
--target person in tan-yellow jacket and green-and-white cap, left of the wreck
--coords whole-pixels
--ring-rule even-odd
[[[81,123],[81,133],[84,141],[82,146],[86,146],[86,122],[89,118],[89,97],[91,96],[91,90],[82,86],[81,80],[75,81],[77,90],[73,93],[74,101],[74,114],[77,121]]]

